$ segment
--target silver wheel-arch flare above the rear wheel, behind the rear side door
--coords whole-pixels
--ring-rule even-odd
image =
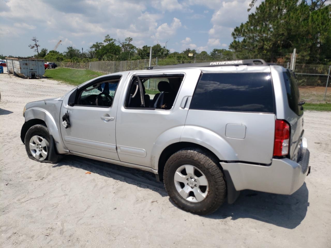
[[[191,142],[206,147],[221,161],[237,161],[238,156],[232,146],[213,131],[199,126],[187,125],[183,128],[180,142]]]

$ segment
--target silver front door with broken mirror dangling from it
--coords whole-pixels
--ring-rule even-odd
[[[64,101],[60,122],[68,112],[70,127],[61,125],[61,134],[70,151],[119,160],[115,123],[120,81],[121,76],[96,79],[77,90],[73,104]]]

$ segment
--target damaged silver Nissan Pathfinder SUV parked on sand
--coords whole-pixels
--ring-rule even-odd
[[[208,214],[243,189],[303,185],[302,104],[293,72],[263,60],[150,67],[27,103],[21,139],[40,162],[74,154],[152,172],[175,205]]]

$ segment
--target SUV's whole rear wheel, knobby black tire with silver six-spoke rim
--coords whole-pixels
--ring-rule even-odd
[[[194,214],[210,214],[226,196],[222,171],[212,154],[200,148],[184,148],[167,160],[164,184],[179,208]]]

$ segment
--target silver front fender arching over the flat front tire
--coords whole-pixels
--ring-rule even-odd
[[[53,111],[56,111],[56,109],[53,109]],[[49,111],[40,107],[31,107],[26,109],[24,117],[26,122],[33,119],[43,120],[46,123],[50,135],[53,136],[58,153],[66,153],[64,150],[67,150],[67,148],[63,144],[61,138],[59,129],[60,124],[55,121],[53,115]]]

